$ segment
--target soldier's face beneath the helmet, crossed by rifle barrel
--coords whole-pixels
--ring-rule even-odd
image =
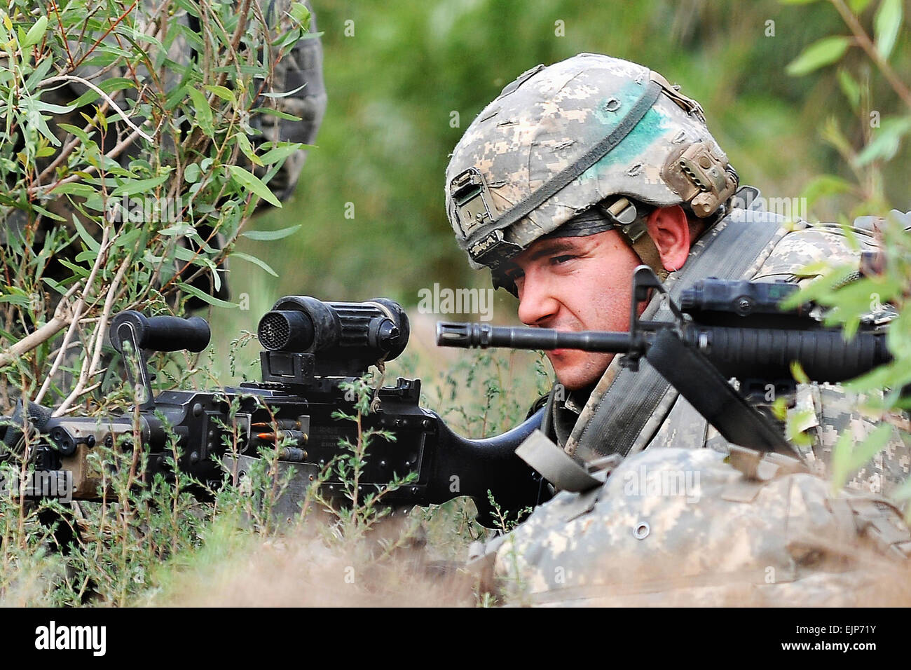
[[[640,263],[617,231],[537,240],[507,271],[518,289],[518,317],[563,331],[628,331],[632,274]],[[546,354],[569,390],[594,384],[614,357],[576,349]]]

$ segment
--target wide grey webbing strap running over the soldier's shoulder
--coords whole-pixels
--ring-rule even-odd
[[[783,222],[781,217],[764,211],[752,211],[751,216],[737,218],[741,220],[735,221],[735,217],[729,215],[697,242],[681,270],[672,275],[674,282],[669,287],[672,300],[679,301],[684,288],[708,276],[741,279]],[[653,298],[643,317],[654,321],[672,319],[670,309],[660,297]],[[647,316],[651,311],[654,315]],[[568,450],[583,460],[615,453],[626,456],[669,389],[670,384],[647,360],[640,361],[638,372],[621,369],[593,409],[590,419],[573,430],[570,442],[576,444],[568,445]],[[670,411],[670,407],[667,410]],[[583,416],[586,414],[588,412],[583,411]],[[651,421],[650,425],[657,429],[660,422]]]

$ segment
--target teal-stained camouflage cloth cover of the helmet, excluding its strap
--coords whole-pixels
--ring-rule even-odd
[[[446,213],[460,247],[466,250],[476,224],[460,222],[455,213],[450,184],[456,176],[479,170],[496,219],[607,137],[649,82],[648,67],[579,54],[532,68],[504,88],[468,127],[446,168]],[[505,240],[524,248],[611,195],[650,205],[680,204],[680,193],[661,170],[672,152],[695,142],[706,142],[716,156],[724,156],[702,120],[662,93],[626,138],[504,231]],[[469,262],[481,267],[470,256]]]

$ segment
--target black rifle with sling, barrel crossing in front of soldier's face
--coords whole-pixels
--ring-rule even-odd
[[[839,382],[891,360],[887,318],[871,318],[845,341],[840,329],[813,318],[807,305],[782,309],[797,288],[709,278],[685,289],[677,305],[650,267],[640,265],[633,275],[629,333],[441,323],[436,344],[608,352],[623,354],[622,365],[632,370],[644,357],[729,442],[793,455],[781,428],[748,402],[757,387],[769,380],[776,388],[793,386],[795,361],[814,381]],[[664,294],[670,321],[640,320],[638,305],[653,290]],[[736,389],[731,377],[739,381]]]

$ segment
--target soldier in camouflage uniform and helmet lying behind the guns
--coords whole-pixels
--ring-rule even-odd
[[[459,246],[518,297],[527,325],[627,330],[640,263],[676,297],[710,275],[795,282],[811,261],[858,261],[837,227],[762,211],[696,101],[647,67],[595,54],[504,88],[455,147],[445,189]],[[662,309],[656,296],[640,313]],[[875,497],[908,475],[897,430],[855,492],[834,496],[815,476],[836,429],[872,428],[836,388],[798,388],[814,444],[789,459],[728,444],[648,365],[547,356],[558,385],[542,430],[578,463],[614,458],[576,490],[546,473],[563,490],[488,547],[528,602],[850,603],[869,585],[846,569],[858,536],[896,555],[911,548],[896,508]]]

